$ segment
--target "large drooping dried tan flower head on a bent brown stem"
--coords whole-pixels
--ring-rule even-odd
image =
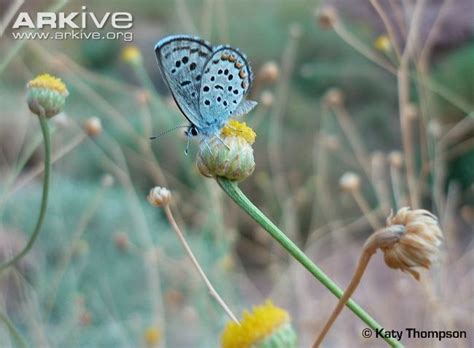
[[[387,226],[391,225],[404,226],[405,233],[398,243],[382,248],[385,263],[419,280],[420,274],[415,269],[428,269],[439,258],[443,233],[436,216],[427,210],[404,207],[387,218]]]

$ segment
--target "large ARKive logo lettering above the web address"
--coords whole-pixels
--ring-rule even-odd
[[[114,29],[130,29],[133,26],[133,16],[129,12],[106,12],[103,16],[88,12],[86,6],[81,12],[38,12],[32,18],[28,12],[20,12],[12,29],[86,29],[94,26],[103,29],[107,24]]]

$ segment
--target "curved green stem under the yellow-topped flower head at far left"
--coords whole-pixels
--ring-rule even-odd
[[[44,217],[46,215],[46,207],[48,206],[48,193],[49,193],[49,178],[51,173],[51,138],[49,134],[48,128],[48,119],[44,116],[38,117],[41,125],[41,131],[43,133],[43,140],[44,140],[44,177],[43,177],[43,195],[41,198],[41,207],[40,213],[38,216],[38,220],[36,221],[36,226],[31,235],[28,243],[23,248],[20,253],[15,255],[12,259],[2,263],[0,265],[0,273],[2,273],[5,269],[10,267],[11,265],[17,263],[23,256],[25,256],[33,246],[36,241],[36,238],[41,231],[41,227],[43,226]]]

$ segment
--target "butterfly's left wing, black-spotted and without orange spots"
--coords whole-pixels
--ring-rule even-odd
[[[155,54],[179,109],[200,128],[199,87],[204,66],[212,55],[211,46],[199,38],[174,35],[160,40],[155,46]]]

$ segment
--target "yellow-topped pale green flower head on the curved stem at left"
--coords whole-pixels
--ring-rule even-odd
[[[42,74],[26,86],[28,106],[34,114],[51,118],[63,110],[69,92],[60,79]]]

